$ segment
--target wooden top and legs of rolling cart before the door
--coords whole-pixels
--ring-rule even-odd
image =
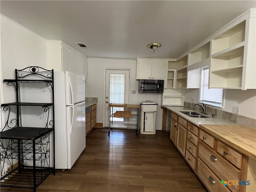
[[[130,105],[130,104],[118,104],[118,103],[110,103],[108,105],[109,107],[109,132],[108,134],[110,135],[110,130],[111,130],[111,124],[113,124],[113,108],[114,107],[122,107],[122,108],[137,108],[138,109],[138,118],[137,118],[137,135],[139,134],[139,118],[140,118],[140,105]],[[110,118],[112,120],[110,121]],[[111,124],[110,124],[111,122]]]

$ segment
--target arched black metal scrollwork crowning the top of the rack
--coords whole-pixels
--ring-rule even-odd
[[[24,78],[26,76],[30,76],[30,75],[40,75],[44,78],[48,78],[51,79],[53,74],[52,74],[52,70],[46,70],[42,67],[38,67],[38,66],[30,66],[30,67],[26,67],[24,69],[21,70],[17,70],[17,78]]]

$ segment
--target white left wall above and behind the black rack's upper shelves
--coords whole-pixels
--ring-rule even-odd
[[[1,43],[3,79],[15,78],[16,68],[48,68],[46,39],[2,15]],[[14,102],[14,99],[14,90],[4,84],[4,102]]]

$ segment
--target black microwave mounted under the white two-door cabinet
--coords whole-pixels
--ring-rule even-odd
[[[144,80],[144,79],[140,79],[139,92],[163,93],[164,92],[164,80]]]

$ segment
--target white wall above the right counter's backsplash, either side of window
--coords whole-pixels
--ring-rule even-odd
[[[185,101],[198,102],[199,89],[188,89],[185,91]],[[239,114],[249,118],[256,119],[256,90],[224,90],[224,108],[226,112],[232,113],[232,107],[239,107]],[[221,110],[221,109],[220,109]]]

